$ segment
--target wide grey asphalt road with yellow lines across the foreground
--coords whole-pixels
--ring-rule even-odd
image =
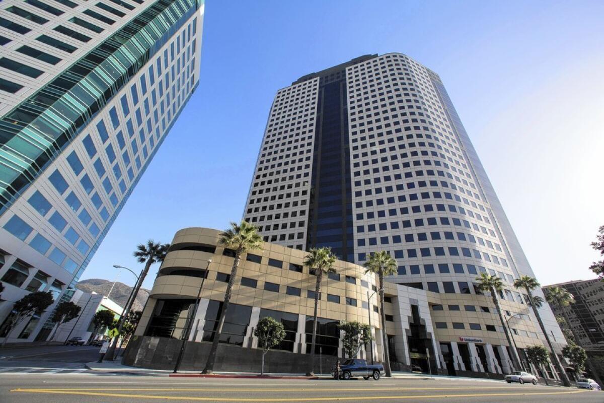
[[[602,403],[604,392],[443,379],[307,381],[0,373],[4,403],[182,402],[514,402]]]

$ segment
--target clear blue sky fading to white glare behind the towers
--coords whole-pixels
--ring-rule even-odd
[[[239,221],[275,91],[388,52],[440,74],[538,279],[594,277],[602,16],[601,0],[207,0],[199,87],[82,279],[113,280],[114,263],[138,271],[132,251],[149,238]]]

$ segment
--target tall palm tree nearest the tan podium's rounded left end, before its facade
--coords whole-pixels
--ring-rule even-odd
[[[220,244],[224,245],[225,248],[234,249],[235,258],[233,260],[233,268],[231,268],[231,277],[226,286],[225,299],[222,303],[222,312],[220,312],[220,319],[216,331],[214,332],[210,353],[208,354],[208,361],[205,364],[202,373],[212,373],[214,371],[214,362],[216,361],[216,351],[218,350],[220,333],[222,332],[222,326],[225,323],[226,310],[228,309],[229,301],[231,300],[231,292],[233,291],[233,284],[235,276],[237,276],[237,268],[239,267],[241,255],[249,250],[260,249],[262,247],[262,237],[260,237],[258,233],[258,228],[249,224],[249,222],[242,221],[241,224],[231,222],[231,228],[220,233]]]

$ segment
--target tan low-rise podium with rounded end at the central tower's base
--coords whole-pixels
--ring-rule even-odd
[[[218,230],[185,228],[176,233],[158,272],[124,363],[154,369],[172,369],[181,340],[190,323],[183,370],[205,366],[210,341],[219,319],[234,251],[222,247]],[[266,356],[267,372],[304,372],[312,337],[315,276],[303,265],[305,251],[265,242],[260,250],[243,254],[233,297],[226,314],[215,370],[259,370],[262,350],[253,336],[260,318],[283,323],[285,339]],[[208,260],[212,262],[209,265]],[[382,326],[376,292],[377,277],[363,266],[336,260],[335,274],[321,288],[316,342],[316,371],[327,372],[344,358],[338,323],[371,323],[375,340],[359,358],[381,362]],[[201,282],[207,276],[199,292]],[[490,377],[512,370],[510,356],[490,295],[475,291],[472,283],[458,284],[463,292],[432,292],[393,282],[385,283],[386,332],[390,361],[395,370],[419,366],[425,372]],[[196,312],[195,301],[200,302]],[[507,317],[529,314],[527,305],[501,300]],[[188,321],[192,317],[192,323]],[[509,321],[520,350],[544,344],[535,321],[516,316]],[[428,367],[428,359],[430,367]],[[550,369],[550,378],[553,369]]]

